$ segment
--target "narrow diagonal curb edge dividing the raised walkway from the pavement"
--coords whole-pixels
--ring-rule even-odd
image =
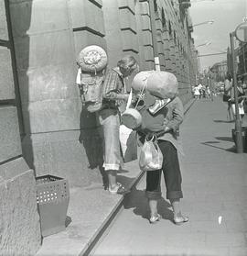
[[[196,99],[192,98],[185,106],[184,115],[187,115],[188,110],[193,106]],[[145,172],[140,172],[137,177],[135,178],[134,182],[130,185],[130,190],[139,183],[141,178],[144,176]],[[91,241],[88,243],[88,247],[81,250],[80,256],[88,256],[91,253],[91,250],[96,245],[96,243],[99,241],[99,239],[102,237],[103,232],[110,226],[111,222],[113,221],[113,218],[116,217],[116,215],[120,212],[122,207],[124,206],[124,195],[121,197],[121,199],[118,201],[116,206],[113,207],[112,213],[105,219],[105,221],[102,223],[102,226],[98,229],[98,231],[95,232],[94,236],[91,238]]]

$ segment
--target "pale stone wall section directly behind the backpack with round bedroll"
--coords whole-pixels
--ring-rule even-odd
[[[13,0],[10,11],[29,166],[70,186],[102,183],[102,140],[75,83],[81,49],[105,49],[102,2]]]

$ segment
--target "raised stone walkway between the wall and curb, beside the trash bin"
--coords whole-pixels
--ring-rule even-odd
[[[194,99],[188,102],[185,106],[186,111],[193,102]],[[128,162],[124,164],[124,170],[119,173],[118,181],[125,187],[132,188],[142,174],[137,161]],[[91,184],[86,188],[70,188],[68,217],[71,222],[64,231],[44,238],[37,256],[87,254],[118,209],[123,206],[123,201],[123,195],[110,195],[108,191],[103,190],[102,184]]]

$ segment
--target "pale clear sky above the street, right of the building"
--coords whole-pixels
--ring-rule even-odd
[[[199,55],[224,52],[230,47],[229,34],[247,17],[247,0],[190,0],[190,17],[193,25],[214,20],[213,24],[195,26],[192,38]],[[199,46],[205,42],[208,46]],[[237,41],[235,42],[237,45]],[[197,47],[199,46],[199,47]],[[226,60],[226,54],[200,57],[200,71],[214,63]]]

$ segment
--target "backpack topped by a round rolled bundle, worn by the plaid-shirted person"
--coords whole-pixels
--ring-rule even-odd
[[[102,108],[102,83],[107,61],[105,50],[97,45],[85,47],[79,53],[76,83],[80,88],[81,102],[89,112]]]

